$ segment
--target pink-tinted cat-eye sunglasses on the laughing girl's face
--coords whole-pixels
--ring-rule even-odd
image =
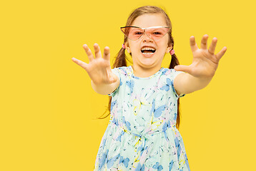
[[[143,33],[144,29],[136,27],[125,27],[121,28],[125,36],[127,36],[132,41],[139,39]],[[147,35],[152,38],[154,41],[157,41],[159,38],[162,38],[168,31],[169,28],[146,28]]]

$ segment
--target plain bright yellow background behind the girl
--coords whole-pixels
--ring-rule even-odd
[[[111,63],[122,46],[129,13],[165,7],[174,49],[192,63],[197,44],[218,38],[227,46],[204,89],[180,100],[189,166],[201,170],[255,169],[255,4],[253,1],[8,1],[1,2],[0,170],[92,170],[109,117],[108,96],[92,90],[82,45],[109,46]],[[208,44],[208,45],[209,45]],[[164,67],[169,64],[166,56]]]

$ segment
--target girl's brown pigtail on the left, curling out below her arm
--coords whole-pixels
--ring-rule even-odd
[[[122,66],[127,66],[127,56],[125,55],[125,48],[121,48],[121,50],[117,53],[117,57],[114,60],[114,64],[113,64],[112,68],[119,68]],[[112,97],[109,96],[109,105],[108,105],[107,109],[105,110],[105,112],[103,113],[103,115],[105,113],[108,113],[108,115],[105,116],[104,118],[107,118],[110,115],[111,100],[112,100]],[[100,117],[102,117],[102,115]],[[104,119],[104,118],[98,118],[98,119]]]

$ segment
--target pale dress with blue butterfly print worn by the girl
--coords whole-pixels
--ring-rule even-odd
[[[189,163],[175,124],[177,95],[173,81],[182,71],[161,68],[148,78],[134,76],[132,66],[112,69],[119,87],[112,96],[110,120],[99,145],[97,170],[179,170]]]

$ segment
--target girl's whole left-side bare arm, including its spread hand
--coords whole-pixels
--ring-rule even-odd
[[[84,63],[77,58],[72,58],[72,61],[87,71],[92,79],[92,89],[102,95],[112,93],[113,90],[118,88],[119,79],[110,67],[109,47],[104,48],[103,58],[97,43],[94,44],[95,58],[86,44],[83,47],[89,58],[89,63]]]

